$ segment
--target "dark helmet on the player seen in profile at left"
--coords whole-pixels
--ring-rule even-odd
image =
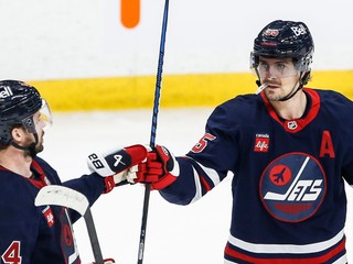
[[[11,130],[15,125],[36,134],[33,114],[43,103],[46,105],[45,100],[33,86],[19,80],[0,80],[0,145],[11,143]]]

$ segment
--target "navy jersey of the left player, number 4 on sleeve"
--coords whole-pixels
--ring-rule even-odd
[[[35,157],[25,178],[0,167],[0,263],[1,264],[79,264],[72,223],[79,215],[57,206],[35,207],[40,188],[62,185],[57,173]],[[104,191],[97,175],[83,176],[63,185],[84,195],[92,205]]]

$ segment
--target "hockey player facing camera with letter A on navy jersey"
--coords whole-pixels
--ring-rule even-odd
[[[250,55],[257,95],[216,107],[185,156],[157,145],[140,166],[136,182],[149,176],[153,189],[179,205],[234,174],[224,263],[347,262],[344,180],[353,184],[353,103],[303,87],[313,51],[304,23],[266,25]]]

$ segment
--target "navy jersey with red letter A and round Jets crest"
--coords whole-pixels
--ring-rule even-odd
[[[205,135],[160,194],[191,204],[228,172],[233,213],[225,263],[346,263],[344,180],[353,184],[353,103],[303,89],[302,118],[282,120],[264,95],[218,106]]]

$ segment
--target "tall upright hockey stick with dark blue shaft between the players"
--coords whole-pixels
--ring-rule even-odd
[[[161,43],[160,43],[160,51],[159,51],[159,58],[158,58],[157,81],[156,81],[156,89],[154,89],[154,103],[153,103],[150,147],[156,146],[157,120],[158,120],[159,102],[160,102],[160,95],[161,95],[164,43],[165,43],[165,33],[167,33],[167,24],[168,24],[168,9],[169,9],[169,0],[165,0],[163,23],[162,23],[162,33],[161,33]],[[149,201],[150,201],[150,193],[151,193],[151,184],[146,184],[145,198],[143,198],[143,210],[142,210],[142,222],[141,222],[141,231],[140,231],[140,242],[139,242],[139,252],[138,252],[138,261],[137,261],[138,264],[142,264],[142,262],[143,262],[146,228],[147,228],[147,217],[148,217],[148,207],[149,207]]]

